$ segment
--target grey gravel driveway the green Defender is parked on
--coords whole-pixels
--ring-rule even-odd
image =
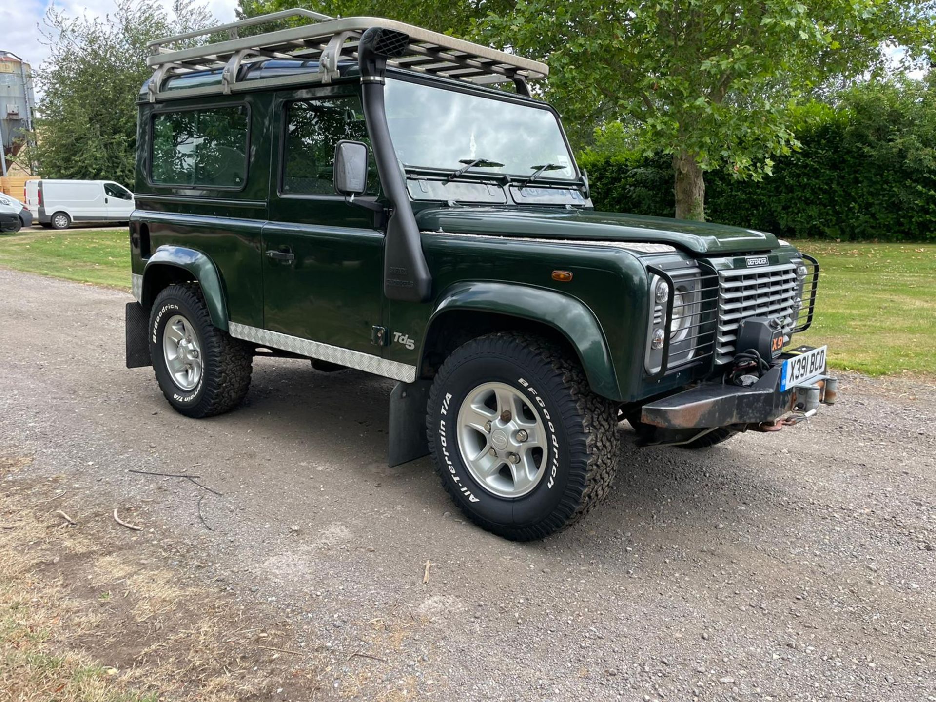
[[[124,368],[128,295],[0,271],[0,300],[0,454],[183,538],[297,647],[374,656],[318,698],[936,700],[931,387],[846,376],[805,426],[628,447],[607,502],[516,544],[428,459],[386,466],[388,381],[260,359],[241,409],[186,419]]]

